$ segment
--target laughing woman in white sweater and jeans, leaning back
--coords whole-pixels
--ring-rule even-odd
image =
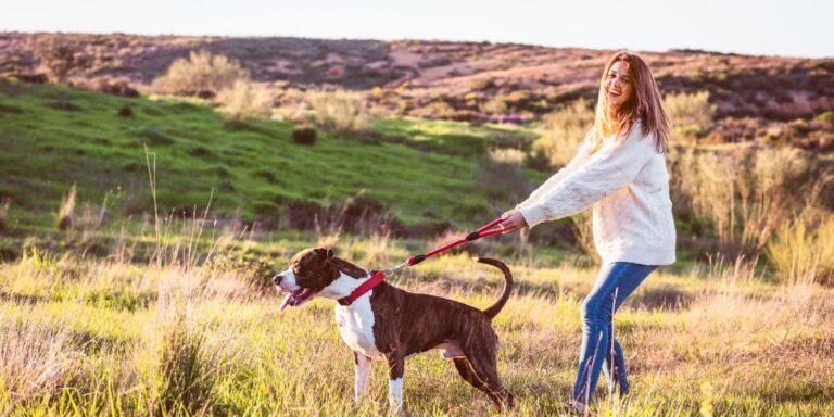
[[[674,263],[674,223],[666,152],[671,123],[646,63],[619,52],[599,83],[594,126],[577,155],[516,208],[504,232],[593,206],[594,244],[603,266],[582,304],[582,350],[570,407],[584,413],[604,370],[629,392],[622,348],[611,319],[659,265]]]

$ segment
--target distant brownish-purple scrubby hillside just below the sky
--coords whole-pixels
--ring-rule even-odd
[[[55,59],[56,48],[73,51],[73,65]],[[614,52],[443,40],[0,33],[0,77],[150,92],[172,62],[199,50],[239,61],[275,92],[339,87],[370,92],[377,114],[481,122],[513,115],[523,123],[578,98],[593,101]],[[697,135],[702,141],[834,150],[834,128],[814,121],[830,118],[834,108],[832,59],[702,50],[640,54],[664,94],[709,93],[716,114]]]

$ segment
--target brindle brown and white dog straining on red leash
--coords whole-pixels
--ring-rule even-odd
[[[389,367],[389,403],[403,407],[403,368],[412,355],[440,349],[454,362],[460,377],[483,391],[497,406],[513,407],[513,394],[498,379],[498,338],[491,319],[513,290],[513,276],[501,261],[479,258],[504,273],[504,293],[484,311],[440,296],[403,291],[381,282],[350,305],[336,305],[336,323],[344,343],[353,350],[358,404],[368,394],[370,361]],[[299,306],[315,296],[340,300],[370,278],[365,269],[333,256],[329,248],[301,251],[275,283],[290,294],[281,309]]]

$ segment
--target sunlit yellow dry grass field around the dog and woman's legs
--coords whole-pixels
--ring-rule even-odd
[[[279,314],[270,268],[324,240],[363,266],[400,262],[414,242],[313,235],[239,239],[219,231],[214,256],[181,225],[147,263],[45,255],[0,264],[0,413],[37,415],[384,415],[387,371],[352,404],[353,363],[318,300]],[[152,230],[144,236],[154,240]],[[211,235],[207,230],[206,235]],[[255,237],[257,238],[257,237]],[[505,245],[480,250],[494,256]],[[232,252],[229,252],[232,251]],[[229,253],[270,253],[266,265]],[[576,372],[579,307],[593,270],[527,248],[504,257],[518,286],[495,318],[509,415],[559,415]],[[189,261],[191,260],[191,261]],[[393,282],[485,307],[502,278],[469,254],[430,260]],[[834,413],[834,292],[776,285],[751,264],[660,269],[617,315],[633,394],[596,415],[822,416]],[[406,364],[407,415],[496,413],[429,352]]]

